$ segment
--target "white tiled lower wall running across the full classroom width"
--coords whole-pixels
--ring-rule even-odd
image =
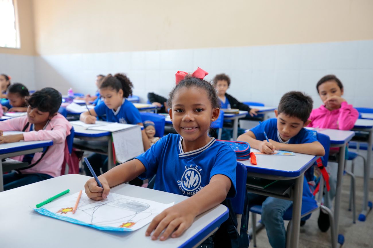
[[[229,94],[267,106],[277,106],[290,90],[305,91],[313,97],[314,107],[320,106],[316,83],[332,73],[344,84],[349,103],[373,107],[373,40],[41,57],[0,54],[0,73],[30,89],[50,86],[66,94],[72,87],[92,94],[95,75],[124,72],[142,102],[150,91],[167,97],[176,71],[197,67],[209,72],[208,80],[217,73],[228,74]]]

